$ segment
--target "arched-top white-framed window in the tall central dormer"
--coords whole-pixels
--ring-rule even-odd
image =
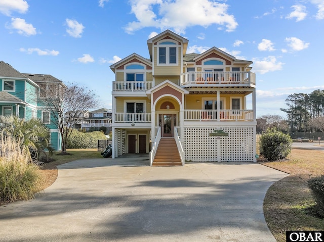
[[[176,65],[178,64],[176,43],[165,41],[159,43],[158,47],[158,64],[159,65]]]

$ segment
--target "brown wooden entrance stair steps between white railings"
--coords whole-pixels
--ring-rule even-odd
[[[174,138],[161,138],[155,154],[153,166],[182,166]]]

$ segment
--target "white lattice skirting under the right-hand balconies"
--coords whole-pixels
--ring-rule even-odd
[[[221,127],[228,136],[210,136],[215,128],[185,127],[185,160],[195,162],[256,162],[255,126]]]

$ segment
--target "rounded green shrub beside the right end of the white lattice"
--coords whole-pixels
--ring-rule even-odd
[[[260,137],[260,153],[268,160],[275,161],[286,158],[292,151],[292,139],[289,134],[267,129]]]

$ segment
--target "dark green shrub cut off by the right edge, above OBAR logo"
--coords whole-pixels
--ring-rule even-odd
[[[317,213],[324,218],[324,175],[313,177],[307,183],[317,203]]]

